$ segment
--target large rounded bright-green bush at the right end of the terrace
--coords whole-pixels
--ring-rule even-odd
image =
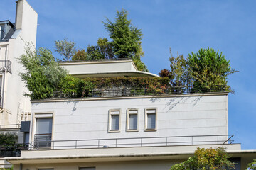
[[[192,70],[193,87],[196,91],[215,89],[216,86],[225,85],[225,90],[230,90],[227,77],[233,74],[229,60],[226,60],[222,52],[212,48],[201,49],[198,53],[188,55],[188,65]]]

